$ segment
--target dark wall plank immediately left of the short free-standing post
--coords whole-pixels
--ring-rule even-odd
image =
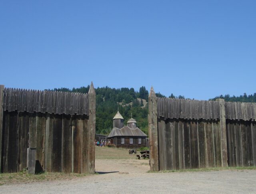
[[[27,165],[28,129],[28,113],[19,113],[17,172],[22,171]]]

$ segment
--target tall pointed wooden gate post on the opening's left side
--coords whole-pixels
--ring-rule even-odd
[[[96,124],[96,93],[93,83],[90,85],[89,95],[89,122],[88,122],[88,172],[95,173],[95,124]]]

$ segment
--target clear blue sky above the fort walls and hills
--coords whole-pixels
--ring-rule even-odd
[[[256,93],[255,0],[0,1],[0,84]]]

